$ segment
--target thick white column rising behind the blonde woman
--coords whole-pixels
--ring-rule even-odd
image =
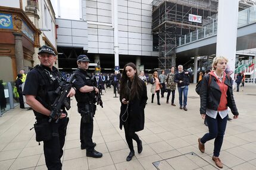
[[[238,31],[238,4],[239,0],[218,1],[218,27],[216,56],[229,59],[230,70],[235,71],[236,38]],[[227,10],[229,9],[229,10]],[[227,29],[229,25],[229,29]],[[234,78],[234,74],[230,75]]]

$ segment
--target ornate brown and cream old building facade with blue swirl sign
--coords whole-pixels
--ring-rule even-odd
[[[55,33],[55,14],[50,1],[1,1],[0,79],[14,81],[21,69],[28,72],[39,63],[38,48],[44,44],[57,52]]]

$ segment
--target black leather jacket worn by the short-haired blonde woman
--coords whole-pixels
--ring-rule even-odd
[[[210,86],[208,86],[208,81],[210,79],[210,75],[205,75],[202,79],[202,86],[201,86],[201,107],[200,107],[200,114],[205,114],[206,109],[209,108],[211,110],[217,110],[218,105],[220,104],[220,97],[221,91],[220,87],[216,82],[216,78],[214,76],[211,77]],[[232,79],[227,78],[224,81],[224,84],[228,86],[227,89],[227,106],[230,108],[233,115],[238,115],[238,109],[236,108],[235,100],[233,97],[233,88],[231,85]]]

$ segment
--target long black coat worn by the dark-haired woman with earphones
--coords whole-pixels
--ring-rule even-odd
[[[127,109],[129,113],[129,117],[127,118],[126,122],[124,122],[123,120],[125,120],[127,117],[127,113],[126,113],[127,104],[123,104],[123,102],[121,102],[121,100],[123,99],[120,97],[120,102],[121,102],[121,109],[120,109],[121,111],[119,116],[120,129],[122,129],[124,123],[128,123],[129,131],[141,131],[144,129],[144,123],[145,123],[144,108],[146,106],[146,100],[148,100],[145,83],[143,83],[143,90],[139,94],[140,94],[140,97],[136,97],[132,101],[129,101],[129,107]],[[123,116],[123,120],[122,120],[122,116]]]

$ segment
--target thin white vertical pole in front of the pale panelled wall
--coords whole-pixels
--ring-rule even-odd
[[[118,46],[118,0],[114,0],[114,54],[115,54],[115,70],[119,70],[119,46]]]

